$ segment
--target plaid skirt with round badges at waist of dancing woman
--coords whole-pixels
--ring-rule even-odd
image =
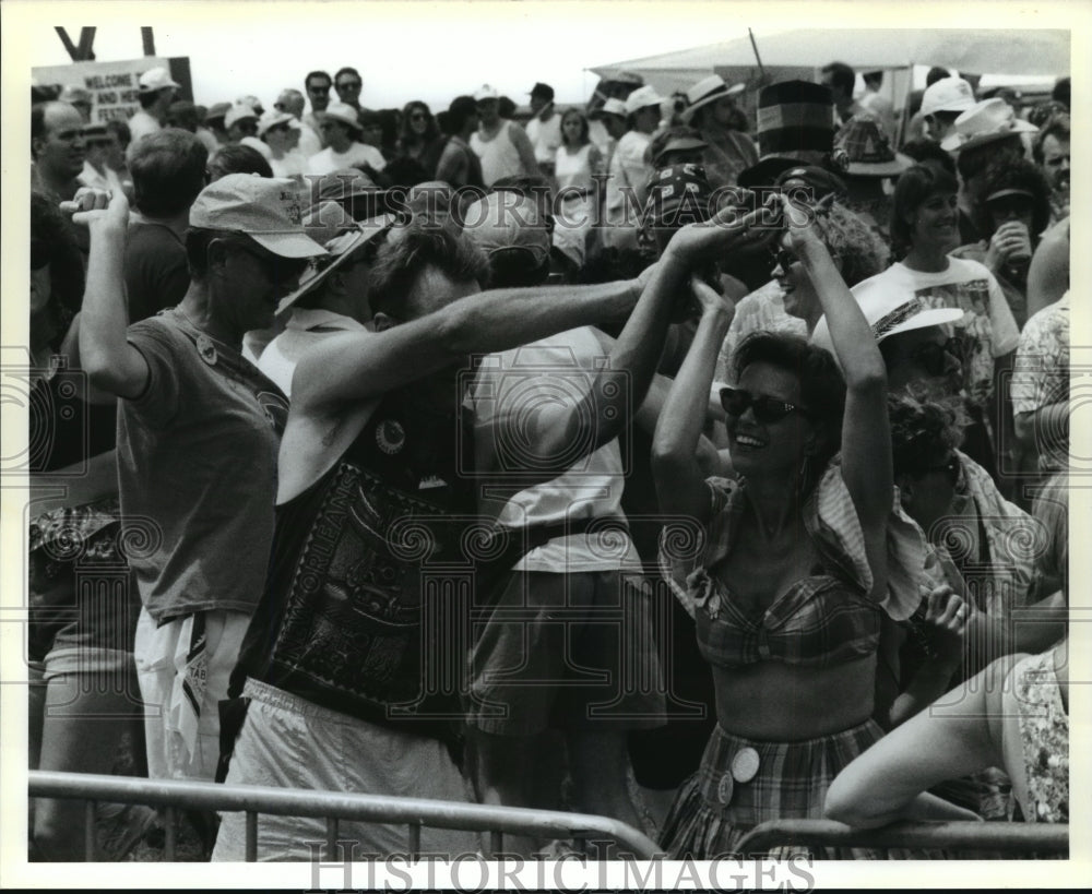
[[[744,739],[717,726],[705,746],[701,766],[679,790],[664,821],[661,844],[670,859],[713,859],[735,854],[740,839],[759,823],[822,819],[831,782],[882,736],[883,730],[870,719],[842,732],[799,742]],[[743,759],[737,758],[740,752]],[[755,775],[748,778],[751,773]],[[833,860],[913,856],[910,851],[800,845],[771,848],[769,853],[771,857],[808,855]]]

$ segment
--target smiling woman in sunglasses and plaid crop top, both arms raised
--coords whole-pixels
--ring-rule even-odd
[[[883,360],[811,225],[822,205],[781,201],[781,249],[811,277],[838,360],[794,335],[746,339],[721,393],[736,480],[705,480],[695,449],[732,314],[695,283],[701,322],[653,444],[661,511],[692,520],[665,531],[665,572],[716,692],[716,729],[662,832],[673,858],[731,853],[767,820],[822,815],[831,779],[881,736],[870,719],[880,611],[909,616],[918,599],[904,572],[924,561],[921,538],[909,520],[889,524]]]

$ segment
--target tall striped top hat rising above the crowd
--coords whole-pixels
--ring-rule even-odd
[[[826,164],[834,145],[834,98],[810,81],[782,81],[758,97],[759,163],[740,172],[741,187],[772,183],[804,162]]]

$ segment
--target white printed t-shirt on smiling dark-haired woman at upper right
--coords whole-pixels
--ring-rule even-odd
[[[898,262],[851,291],[869,283],[890,284],[929,307],[963,311],[962,319],[948,326],[970,341],[963,367],[964,388],[971,400],[985,407],[994,392],[994,358],[1016,350],[1020,343],[1017,321],[994,274],[965,258],[949,258],[948,270],[941,273],[922,273]]]

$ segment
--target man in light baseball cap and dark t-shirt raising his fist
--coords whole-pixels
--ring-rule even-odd
[[[145,718],[149,775],[211,782],[219,702],[265,581],[287,416],[284,396],[244,358],[242,337],[273,322],[280,297],[325,252],[300,224],[290,180],[229,175],[190,208],[182,300],[127,327],[124,194],[86,190],[69,210],[83,212],[75,219],[91,229],[96,271],[83,303],[82,366],[121,398],[127,517],[155,526],[154,545],[129,556],[143,604],[138,677],[155,705]]]

